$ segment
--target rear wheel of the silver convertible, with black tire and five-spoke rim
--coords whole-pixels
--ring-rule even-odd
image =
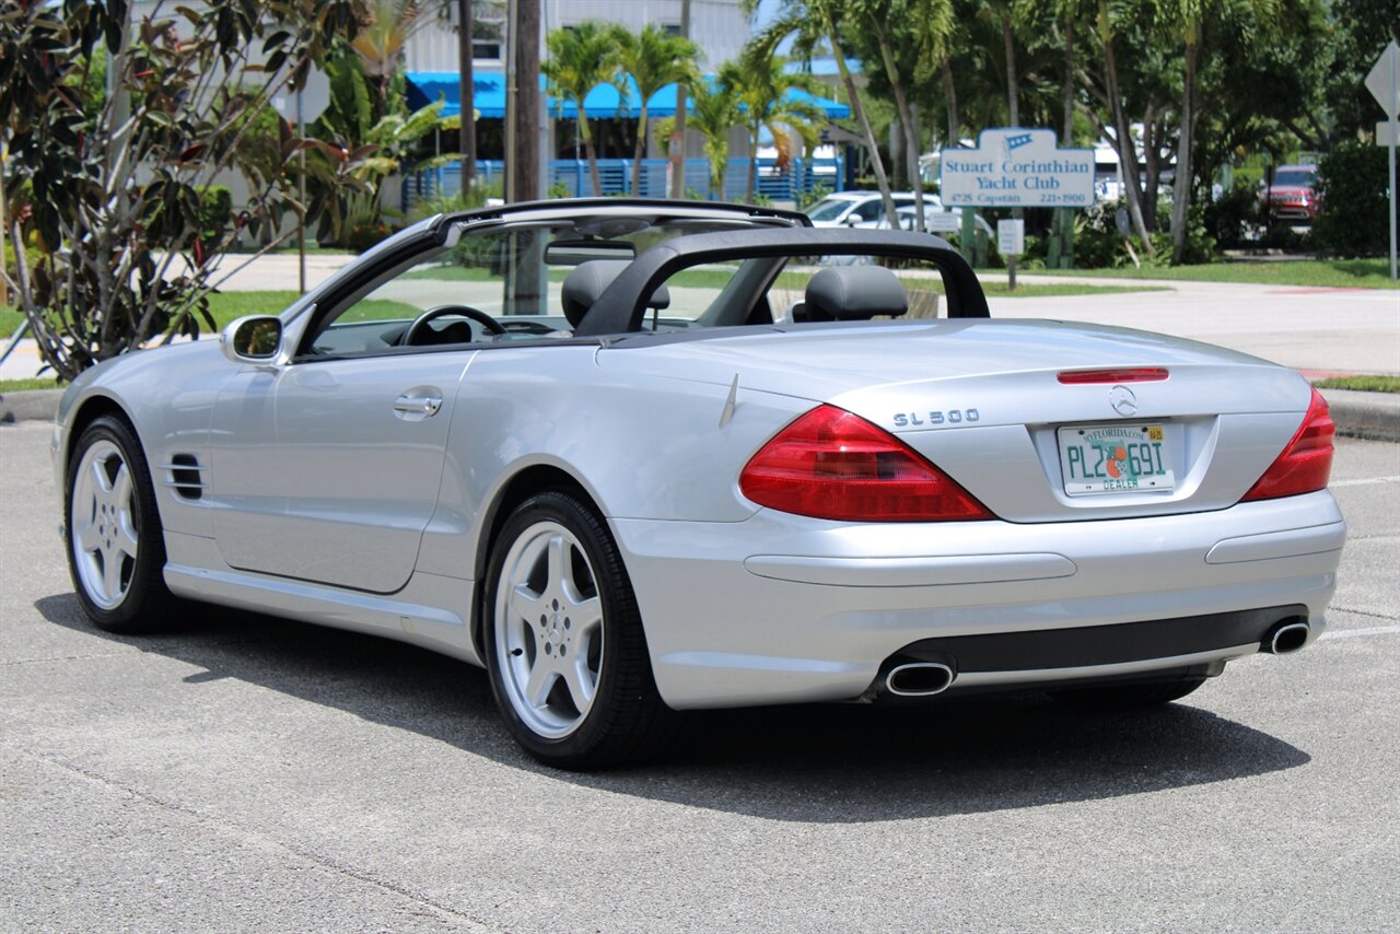
[[[482,613],[496,703],[535,759],[601,769],[666,744],[675,714],[657,692],[631,581],[608,527],[578,497],[539,493],[511,513]]]

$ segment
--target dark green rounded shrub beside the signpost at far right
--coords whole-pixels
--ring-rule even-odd
[[[1379,256],[1389,249],[1389,157],[1373,143],[1348,140],[1317,164],[1322,211],[1313,242],[1338,256]]]

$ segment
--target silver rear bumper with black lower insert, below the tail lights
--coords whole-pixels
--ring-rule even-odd
[[[1009,647],[994,665],[965,662],[953,690],[1218,669],[1259,650],[1271,620],[1254,611],[1287,608],[1317,637],[1345,539],[1326,492],[1096,522],[847,525],[760,511],[613,528],[658,688],[678,709],[857,699],[925,640]]]

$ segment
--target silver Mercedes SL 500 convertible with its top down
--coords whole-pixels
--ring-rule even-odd
[[[94,367],[53,462],[98,626],[206,601],[424,646],[585,769],[692,709],[1141,706],[1298,651],[1333,430],[1263,360],[991,321],[927,234],[606,199],[438,216]]]

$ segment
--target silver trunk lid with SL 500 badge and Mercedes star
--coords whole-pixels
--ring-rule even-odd
[[[746,391],[840,406],[1014,522],[1228,508],[1288,444],[1310,399],[1299,374],[1256,357],[1057,321],[650,337],[603,349],[598,363],[720,385],[738,377],[739,406]],[[1165,368],[1166,379],[1058,381],[1065,371],[1145,367]],[[1099,479],[1109,475],[1119,479]]]

